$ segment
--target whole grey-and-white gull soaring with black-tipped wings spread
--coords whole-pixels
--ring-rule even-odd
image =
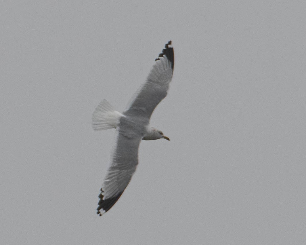
[[[155,59],[146,81],[136,90],[125,111],[116,111],[107,100],[102,100],[92,114],[95,131],[116,129],[110,165],[98,196],[97,214],[102,216],[120,198],[138,164],[141,140],[170,139],[161,130],[150,126],[155,107],[166,97],[174,70],[172,42]]]

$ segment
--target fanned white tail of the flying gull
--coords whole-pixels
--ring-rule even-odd
[[[95,131],[116,128],[121,116],[107,100],[102,100],[92,114],[92,128]]]

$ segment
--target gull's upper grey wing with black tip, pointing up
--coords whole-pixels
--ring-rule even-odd
[[[169,41],[147,77],[131,98],[124,115],[143,117],[149,121],[158,103],[166,97],[174,68],[174,51]]]

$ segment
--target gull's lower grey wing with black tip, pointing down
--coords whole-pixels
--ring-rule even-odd
[[[99,195],[97,214],[100,216],[117,202],[129,184],[138,164],[138,147],[141,138],[142,136],[128,138],[120,133],[120,128],[118,129],[111,164]]]

